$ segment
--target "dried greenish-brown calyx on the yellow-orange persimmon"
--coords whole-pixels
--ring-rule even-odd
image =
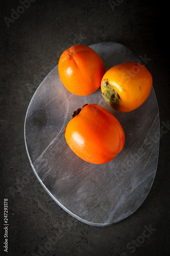
[[[105,101],[110,104],[112,109],[114,109],[115,111],[119,111],[119,101],[121,101],[121,99],[118,93],[113,89],[111,84],[108,83],[108,79],[104,79],[102,81],[102,87],[105,90],[102,93],[102,96],[104,97]]]

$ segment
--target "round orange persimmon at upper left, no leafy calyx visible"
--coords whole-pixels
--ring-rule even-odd
[[[100,88],[105,65],[93,49],[88,46],[75,45],[61,54],[58,72],[69,92],[85,96]]]

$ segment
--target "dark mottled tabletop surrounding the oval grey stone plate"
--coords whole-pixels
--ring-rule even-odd
[[[170,255],[169,6],[153,0],[32,0],[27,8],[19,6],[19,1],[1,1],[0,254]],[[39,184],[27,157],[23,126],[35,90],[61,53],[71,45],[102,41],[119,42],[147,58],[162,132],[157,174],[147,199],[128,219],[94,227],[69,216]],[[8,199],[8,253],[3,252],[4,198]],[[152,231],[143,240],[146,226]]]

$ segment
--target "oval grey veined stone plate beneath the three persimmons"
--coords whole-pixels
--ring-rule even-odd
[[[106,71],[118,63],[140,62],[127,47],[116,42],[90,47],[102,57]],[[90,164],[75,155],[65,141],[64,129],[72,112],[86,103],[104,106],[124,129],[125,146],[109,163]],[[57,65],[31,99],[25,119],[25,143],[37,179],[68,214],[93,226],[122,221],[143,203],[156,174],[159,112],[154,89],[138,109],[117,113],[105,102],[101,89],[89,96],[68,92]]]

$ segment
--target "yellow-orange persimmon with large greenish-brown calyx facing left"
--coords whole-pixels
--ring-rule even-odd
[[[105,101],[116,111],[137,109],[150,95],[153,78],[138,62],[126,62],[110,68],[101,82]]]

